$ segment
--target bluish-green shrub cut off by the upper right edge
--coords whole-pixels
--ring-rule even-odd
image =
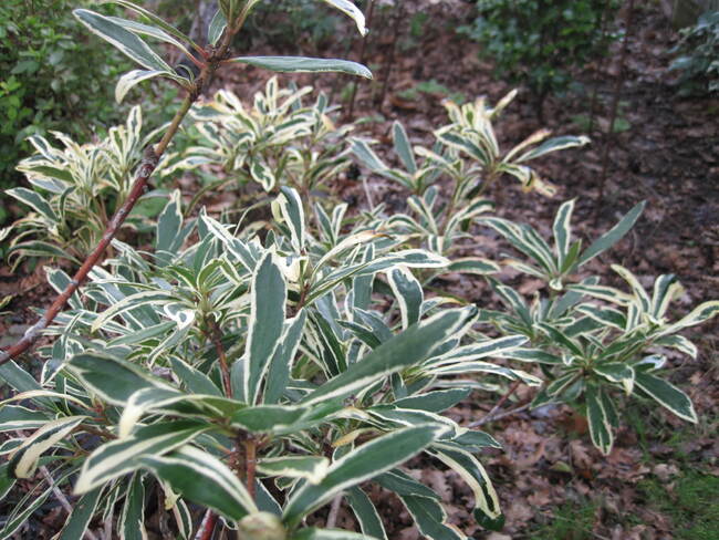
[[[719,93],[719,11],[702,14],[697,24],[681,31],[673,50],[679,56],[671,70],[681,71],[685,93]]]

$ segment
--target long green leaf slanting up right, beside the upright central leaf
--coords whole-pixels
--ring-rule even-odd
[[[308,395],[303,403],[345,397],[387,375],[421,363],[436,347],[465,330],[476,313],[473,308],[447,310],[413,324],[372,351],[361,362],[350,365],[344,373],[324,383]]]

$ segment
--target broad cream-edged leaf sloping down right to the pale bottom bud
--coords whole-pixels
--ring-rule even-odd
[[[258,511],[237,475],[218,458],[198,448],[184,446],[166,456],[145,455],[139,461],[169,484],[173,491],[228,519],[238,521]]]

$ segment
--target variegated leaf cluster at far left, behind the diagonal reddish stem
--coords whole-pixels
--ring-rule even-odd
[[[79,263],[92,251],[129,191],[143,149],[157,134],[142,132],[142,111],[135,106],[124,125],[112,127],[97,143],[81,145],[59,132],[53,135],[62,148],[39,135],[29,138],[35,153],[20,162],[18,170],[32,189],[6,191],[32,209],[10,227],[14,236],[9,256],[15,257],[15,264],[27,257]]]

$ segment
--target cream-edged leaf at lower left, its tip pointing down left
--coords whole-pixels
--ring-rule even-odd
[[[192,440],[209,425],[192,420],[163,422],[143,426],[131,436],[96,448],[84,461],[75,482],[76,494],[86,494],[140,467],[143,456],[161,456]]]

